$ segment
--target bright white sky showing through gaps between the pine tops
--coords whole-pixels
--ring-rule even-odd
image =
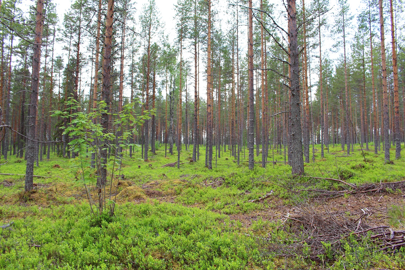
[[[26,4],[32,4],[32,1],[30,0],[26,0],[29,3]],[[53,0],[53,2],[56,3],[57,5],[57,12],[58,12],[58,17],[60,19],[60,25],[62,25],[62,21],[63,21],[63,15],[64,13],[66,13],[66,11],[68,11],[68,9],[70,8],[70,5],[72,4],[71,0]],[[134,7],[136,7],[136,11],[133,15],[133,17],[136,19],[136,21],[138,21],[139,18],[139,14],[142,10],[142,6],[143,4],[145,4],[147,2],[147,0],[138,0],[136,2],[136,4],[134,4]],[[175,15],[175,10],[174,10],[174,5],[176,4],[177,0],[156,0],[156,6],[158,7],[159,11],[160,11],[160,17],[161,17],[161,22],[164,23],[164,34],[169,36],[169,41],[174,44],[174,39],[175,39],[175,27],[176,27],[176,21],[173,18]],[[280,11],[284,11],[283,8],[283,4],[281,0],[273,0],[271,1],[275,4],[275,13],[281,14]],[[297,1],[298,2],[298,1]],[[259,0],[254,0],[253,5],[258,6],[259,4]],[[311,1],[307,0],[305,3],[306,7],[310,6]],[[352,35],[354,34],[355,29],[357,28],[357,19],[356,19],[356,15],[358,13],[360,13],[360,9],[361,7],[364,6],[364,3],[359,1],[349,1],[350,3],[350,9],[351,9],[351,13],[352,15],[355,15],[354,19],[352,20],[352,25],[353,25],[353,29],[349,30],[348,32],[348,37],[347,40],[350,42]],[[23,3],[24,4],[24,3]],[[329,11],[329,13],[326,15],[329,19],[329,24],[331,27],[333,27],[333,22],[334,22],[334,16],[333,13],[337,11],[337,0],[330,0],[330,7],[332,8],[331,11]],[[221,28],[224,30],[224,32],[228,32],[227,29],[229,29],[230,26],[227,25],[226,21],[228,20],[228,18],[230,18],[230,15],[228,15],[226,13],[227,9],[230,9],[230,7],[227,5],[227,1],[226,0],[213,0],[213,9],[217,11],[217,21],[215,22],[216,25],[220,25]],[[241,12],[239,13],[239,17],[240,19],[242,16],[245,16],[244,14],[242,14]],[[275,14],[275,18],[278,18],[278,23],[280,25],[286,25],[286,21],[283,19],[283,17]],[[131,22],[128,22],[128,24],[131,24]],[[241,24],[245,24],[245,23],[241,23]],[[139,30],[139,28],[138,28]],[[388,30],[388,29],[387,29]],[[240,34],[239,34],[239,47],[240,47],[240,51],[241,51],[241,55],[244,55],[244,51],[246,51],[246,45],[247,45],[247,37],[245,37],[247,35],[247,26],[243,25],[240,26],[239,28]],[[241,31],[244,32],[244,34],[241,34]],[[329,30],[323,30],[322,32],[325,33],[325,35],[322,37],[322,54],[326,55],[326,53],[328,54],[328,57],[336,60],[339,55],[341,55],[342,50],[338,50],[335,52],[330,51],[330,49],[332,48],[333,44],[336,43],[337,40],[335,40],[335,36],[330,35],[330,31]],[[387,35],[386,35],[387,36]],[[309,43],[313,43],[314,40],[309,40]],[[85,49],[86,47],[86,41],[83,42],[84,44],[81,45],[81,51],[83,53],[85,53],[85,51],[87,51]],[[62,50],[62,46],[63,44],[60,44],[60,46],[55,46],[55,48],[57,48],[55,50],[55,55],[62,55],[62,57],[65,59],[64,64],[66,64],[66,60],[67,60],[67,55],[66,55],[66,51]],[[389,46],[388,43],[386,42],[386,46]],[[128,53],[129,50],[126,49],[126,52]],[[350,46],[347,46],[347,52],[350,53]],[[203,55],[201,55],[202,53],[205,53],[203,51],[200,52],[200,58],[202,58]],[[314,48],[311,51],[312,55],[319,55],[319,47],[318,48]],[[184,53],[183,54],[183,59],[187,60],[187,58],[189,58],[189,60],[192,60],[192,54],[191,53]],[[129,59],[128,59],[129,61]],[[314,68],[315,66],[318,66],[319,62],[318,59],[313,59],[313,63],[311,68]],[[119,64],[119,62],[117,62],[117,64]],[[194,66],[194,65],[192,65]],[[84,91],[85,94],[89,93],[90,90],[90,79],[91,79],[91,75],[90,75],[90,69],[91,69],[91,63],[84,68],[84,70],[82,70],[82,81],[81,81],[81,89],[82,91]],[[200,96],[201,98],[205,99],[206,96],[206,81],[205,81],[205,74],[204,71],[205,70],[205,63],[200,61]],[[194,74],[194,72],[192,72]],[[315,72],[311,73],[311,82],[314,85],[316,83],[316,81],[318,80],[318,75],[315,74]],[[188,91],[192,91],[193,88],[193,79],[190,78],[188,79],[189,83],[189,87]],[[124,83],[124,96],[129,96],[130,95],[130,89],[129,87]],[[316,87],[313,88],[313,90],[315,91]],[[164,89],[162,91],[162,94],[164,95]]]

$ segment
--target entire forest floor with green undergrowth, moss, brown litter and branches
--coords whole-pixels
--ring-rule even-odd
[[[85,167],[83,181],[81,157],[51,155],[30,193],[23,175],[0,175],[0,223],[14,222],[0,228],[0,269],[404,269],[405,150],[384,164],[369,148],[347,156],[330,145],[321,159],[315,145],[302,177],[277,149],[254,170],[247,149],[240,165],[228,149],[214,153],[212,170],[204,147],[191,162],[183,145],[179,169],[164,166],[177,162],[164,145],[148,162],[126,151],[108,168],[114,217],[90,213],[84,183],[97,201],[95,171]],[[25,168],[13,156],[0,173]]]

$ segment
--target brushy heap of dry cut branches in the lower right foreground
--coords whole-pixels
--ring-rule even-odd
[[[377,251],[393,252],[405,246],[405,231],[394,231],[389,226],[371,226],[367,222],[369,213],[364,209],[358,219],[348,218],[343,211],[315,210],[306,203],[296,208],[295,213],[282,215],[279,225],[266,236],[256,235],[262,253],[320,262],[341,255],[344,240],[349,238],[374,243],[368,246]]]

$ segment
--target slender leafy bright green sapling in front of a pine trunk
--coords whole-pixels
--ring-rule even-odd
[[[69,98],[66,102],[65,111],[55,111],[52,115],[53,117],[69,118],[70,125],[62,126],[63,134],[71,138],[68,142],[68,147],[72,153],[77,154],[75,159],[72,159],[73,167],[77,167],[81,170],[81,179],[83,180],[83,185],[85,187],[86,195],[88,202],[90,204],[90,209],[92,213],[103,213],[103,210],[107,209],[107,206],[110,210],[110,215],[114,215],[116,193],[118,189],[119,181],[117,181],[117,187],[115,190],[115,198],[111,203],[107,203],[107,195],[105,192],[100,193],[103,198],[99,198],[99,201],[104,202],[104,204],[96,204],[92,197],[90,196],[90,188],[86,183],[94,182],[97,178],[100,177],[99,168],[100,168],[100,142],[109,142],[107,147],[111,147],[114,150],[113,160],[109,160],[107,168],[111,170],[111,183],[110,183],[110,194],[109,201],[111,201],[111,192],[113,190],[112,183],[114,175],[118,172],[120,175],[122,168],[122,159],[123,157],[123,147],[132,146],[135,144],[130,144],[128,138],[133,134],[136,134],[136,128],[138,125],[141,125],[146,119],[149,119],[149,113],[151,115],[156,114],[156,109],[150,111],[145,111],[145,115],[138,116],[135,113],[132,103],[128,103],[123,107],[122,112],[119,113],[109,113],[107,104],[104,101],[100,101],[97,104],[97,109],[84,113],[80,104],[73,98]],[[117,126],[117,131],[121,131],[122,126],[129,126],[131,128],[126,128],[126,131],[122,135],[121,132],[112,132],[112,130],[104,130],[101,124],[93,119],[99,119],[102,113],[108,113],[112,116],[117,117],[114,121],[114,125]],[[115,144],[114,144],[115,142]],[[105,147],[105,146],[104,146]],[[91,160],[89,157],[94,153],[94,160]],[[94,172],[92,171],[92,163],[95,163],[96,167],[96,177],[94,177]],[[96,178],[96,179],[95,179]],[[93,210],[93,206],[96,206],[97,211]],[[100,208],[100,206],[102,208]]]

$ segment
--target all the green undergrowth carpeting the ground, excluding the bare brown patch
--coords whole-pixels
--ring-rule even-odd
[[[271,229],[276,221],[258,217],[249,221],[249,227],[228,217],[247,215],[249,219],[279,207],[284,214],[311,196],[304,191],[298,199],[292,188],[342,189],[341,183],[310,176],[356,184],[398,181],[405,176],[405,151],[393,164],[384,164],[384,152],[375,155],[373,150],[372,143],[370,151],[356,145],[347,156],[340,145],[330,145],[321,159],[320,145],[315,145],[315,162],[311,149],[305,176],[292,177],[283,149],[274,149],[274,156],[269,150],[271,162],[266,168],[257,163],[253,170],[247,168],[247,151],[241,153],[238,165],[227,149],[220,158],[214,156],[213,169],[208,170],[204,147],[200,147],[200,159],[191,162],[192,147],[186,151],[183,145],[179,169],[162,167],[177,162],[177,152],[164,156],[164,145],[157,147],[156,155],[149,153],[147,162],[141,159],[140,149],[132,158],[127,149],[122,168],[115,167],[114,175],[107,176],[108,188],[117,193],[112,218],[90,214],[84,183],[94,191],[96,171],[85,167],[83,180],[80,157],[51,155],[51,160],[34,167],[35,175],[45,177],[34,178],[30,193],[23,192],[24,176],[0,175],[1,223],[15,222],[0,229],[0,269],[401,269],[402,253],[375,252],[372,243],[357,239],[345,240],[344,249],[333,259],[275,256],[258,239],[270,233],[285,240],[285,234]],[[394,152],[391,149],[392,157]],[[255,162],[260,161],[261,153],[255,156]],[[14,156],[0,166],[1,173],[9,174],[25,174],[25,169],[24,159]],[[271,192],[266,200],[250,202]],[[403,206],[389,209],[390,225],[404,224]]]

